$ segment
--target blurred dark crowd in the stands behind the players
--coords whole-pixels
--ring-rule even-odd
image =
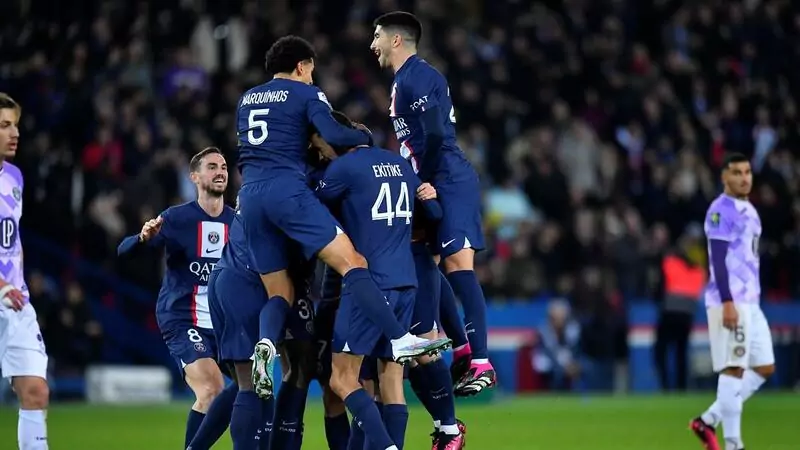
[[[309,39],[331,103],[397,148],[391,74],[368,48],[372,19],[394,9],[424,20],[420,52],[448,78],[482,176],[487,297],[563,296],[582,317],[657,299],[676,242],[705,263],[727,151],[752,157],[766,294],[800,297],[791,0],[3,2],[16,18],[0,28],[0,91],[24,108],[24,228],[155,292],[152,256],[119,262],[114,249],[194,197],[193,152],[216,145],[235,161],[238,96],[265,80],[277,37]]]

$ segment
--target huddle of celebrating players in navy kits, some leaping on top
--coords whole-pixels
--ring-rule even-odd
[[[432,448],[464,447],[454,397],[496,384],[473,270],[480,188],[456,144],[447,82],[416,55],[421,34],[416,17],[393,12],[375,21],[370,46],[395,75],[399,154],[331,108],[313,85],[314,49],[286,36],[266,55],[273,78],[238,104],[236,208],[223,201],[225,158],[209,147],[190,162],[197,201],[120,244],[120,254],[165,249],[156,317],[196,395],[187,449],[211,448],[228,426],[237,450],[300,449],[313,379],[331,450],[402,449],[404,378],[433,419]],[[324,271],[316,307],[315,269]],[[448,368],[440,352],[451,345]],[[223,374],[234,383],[225,387]]]

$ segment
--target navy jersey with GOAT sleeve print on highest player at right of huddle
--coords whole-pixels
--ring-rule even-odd
[[[415,172],[425,159],[425,136],[421,114],[433,107],[441,112],[444,131],[439,156],[427,171],[438,177],[457,177],[471,166],[456,143],[456,115],[447,80],[424,59],[413,55],[394,75],[389,117],[392,120],[400,154],[411,162]]]

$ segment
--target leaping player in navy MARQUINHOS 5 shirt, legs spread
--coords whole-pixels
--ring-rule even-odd
[[[370,319],[381,325],[392,339],[396,358],[416,357],[447,345],[447,341],[412,336],[400,325],[382,300],[367,261],[307,186],[309,129],[340,147],[372,140],[367,131],[345,127],[333,119],[325,94],[311,84],[315,58],[314,49],[304,39],[279,39],[266,55],[266,69],[273,79],[245,92],[237,110],[242,172],[239,213],[253,268],[270,297],[261,313],[265,325],[253,364],[255,392],[262,398],[272,396],[274,343],[295,297],[286,270],[290,241],[300,245],[306,259],[316,255],[342,275],[343,293],[352,295]],[[248,393],[239,393],[243,394]],[[236,403],[245,402],[258,399],[247,395]]]

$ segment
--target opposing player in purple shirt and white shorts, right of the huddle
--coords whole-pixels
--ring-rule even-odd
[[[753,174],[744,155],[725,158],[722,183],[725,191],[711,203],[704,226],[711,273],[706,314],[711,361],[719,373],[717,399],[690,425],[707,450],[719,450],[715,429],[722,424],[725,450],[741,450],[743,403],[775,371],[775,356],[759,305],[761,218],[747,199]]]

